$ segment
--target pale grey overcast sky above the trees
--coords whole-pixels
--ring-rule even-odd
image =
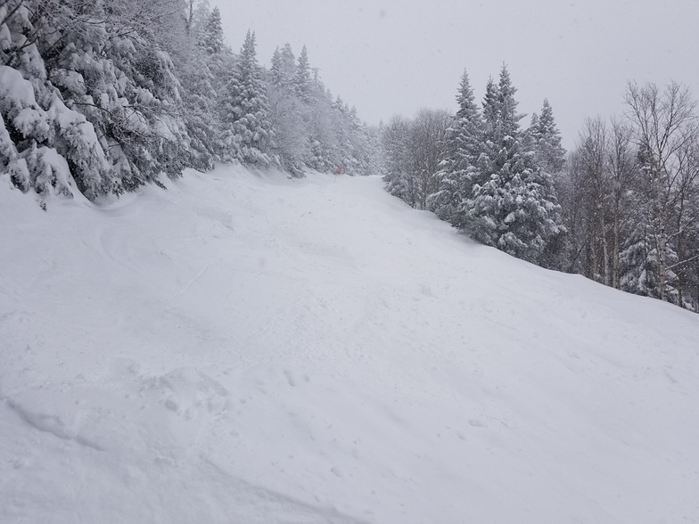
[[[277,45],[297,56],[307,45],[325,86],[371,124],[421,107],[456,111],[463,70],[480,102],[503,62],[520,112],[539,112],[547,97],[568,148],[586,117],[623,111],[629,79],[674,79],[699,97],[699,0],[210,3],[235,52],[256,32],[264,65]]]

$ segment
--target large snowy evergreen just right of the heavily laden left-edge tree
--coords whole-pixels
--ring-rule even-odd
[[[49,55],[55,61],[47,58],[59,74],[75,70],[86,80],[86,94],[74,92],[71,85],[60,88],[66,104],[82,108],[103,137],[121,190],[157,182],[161,174],[180,176],[186,164],[189,143],[178,111],[181,86],[169,54],[177,53],[185,32],[182,12],[174,12],[170,4],[139,4],[134,17],[128,0],[99,0],[91,4],[94,12],[79,13],[79,34],[68,40],[80,43],[74,52],[69,45],[65,52]],[[95,17],[106,20],[106,41],[89,37]]]

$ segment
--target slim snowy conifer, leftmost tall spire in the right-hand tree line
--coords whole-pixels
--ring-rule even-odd
[[[464,71],[456,95],[458,110],[447,130],[447,153],[441,164],[440,190],[430,199],[430,207],[438,217],[462,229],[466,214],[462,202],[471,195],[478,180],[475,164],[480,155],[482,119],[475,103],[473,88]]]

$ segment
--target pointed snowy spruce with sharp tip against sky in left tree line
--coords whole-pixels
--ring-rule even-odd
[[[255,33],[248,31],[226,86],[222,119],[226,160],[266,167],[274,132],[269,119],[267,86],[255,51]]]

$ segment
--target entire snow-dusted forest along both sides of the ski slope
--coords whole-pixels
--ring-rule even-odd
[[[197,0],[3,0],[0,176],[47,209],[218,162],[379,175],[477,242],[699,311],[686,86],[629,81],[623,114],[588,119],[565,151],[546,99],[522,125],[505,65],[480,102],[465,72],[456,112],[372,127],[324,85],[313,50],[280,43],[259,60],[255,33],[241,40],[234,52],[218,9]]]

